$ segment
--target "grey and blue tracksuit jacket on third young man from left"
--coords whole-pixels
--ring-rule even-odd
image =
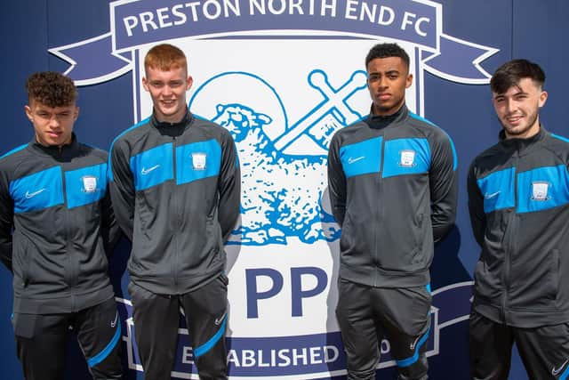
[[[340,278],[371,287],[428,284],[433,242],[454,222],[456,169],[450,137],[405,105],[335,133],[328,181],[341,224]]]

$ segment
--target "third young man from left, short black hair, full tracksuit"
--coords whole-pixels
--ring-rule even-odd
[[[334,134],[328,155],[333,214],[341,225],[336,315],[348,378],[375,379],[389,337],[400,379],[427,379],[433,241],[454,222],[453,142],[405,106],[409,56],[377,44],[365,58],[369,117]]]

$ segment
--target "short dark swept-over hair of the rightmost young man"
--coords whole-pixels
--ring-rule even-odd
[[[540,87],[545,82],[545,73],[540,65],[527,60],[512,60],[496,69],[490,79],[490,88],[493,93],[506,93],[510,87],[519,85],[519,81],[525,77]]]

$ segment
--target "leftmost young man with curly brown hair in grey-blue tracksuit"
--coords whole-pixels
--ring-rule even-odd
[[[121,328],[106,253],[118,239],[107,153],[77,141],[73,81],[28,78],[34,139],[0,158],[0,257],[13,271],[24,376],[60,380],[69,327],[95,379],[121,378]]]

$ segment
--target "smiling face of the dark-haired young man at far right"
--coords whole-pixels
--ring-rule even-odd
[[[548,93],[529,77],[519,80],[506,93],[493,93],[496,116],[506,138],[528,138],[540,131],[539,110]]]

